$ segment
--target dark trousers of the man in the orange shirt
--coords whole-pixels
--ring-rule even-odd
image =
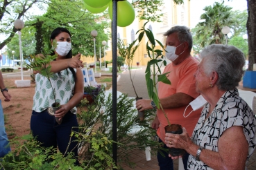
[[[162,142],[160,138],[159,138],[159,142]],[[166,144],[164,144],[163,147],[165,149],[168,149]],[[160,167],[160,170],[173,170],[173,160],[171,159],[171,157],[169,157],[169,152],[162,151],[162,153],[164,153],[164,156],[161,155],[160,152],[157,152],[157,160],[158,160],[158,165]],[[183,155],[182,157],[184,169],[187,169],[188,158],[189,158],[189,153],[186,152],[185,155]]]

